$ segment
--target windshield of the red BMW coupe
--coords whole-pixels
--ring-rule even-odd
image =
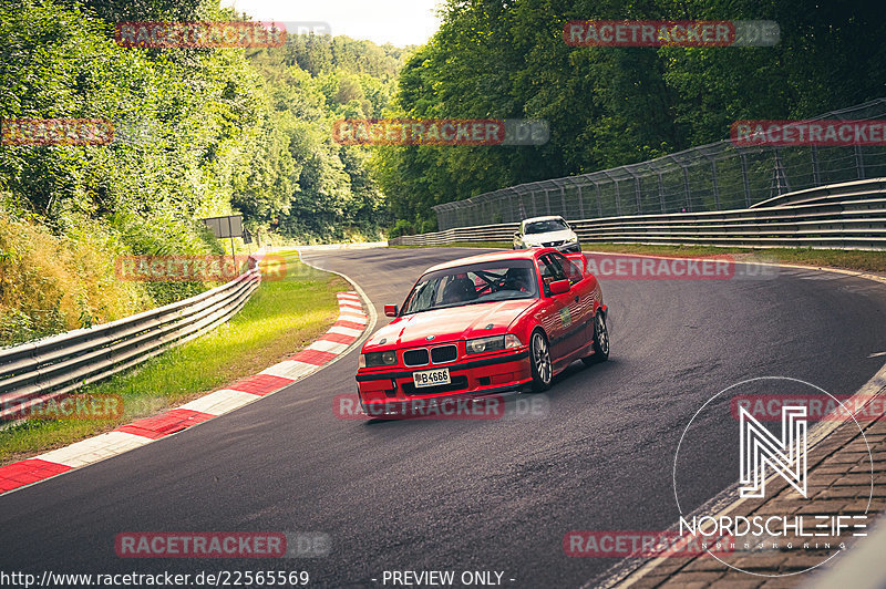
[[[427,272],[406,297],[403,314],[538,297],[532,260],[499,260]]]

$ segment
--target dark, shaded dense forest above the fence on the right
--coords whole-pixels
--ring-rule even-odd
[[[777,22],[775,46],[569,46],[571,20]],[[886,20],[867,0],[447,0],[400,74],[392,116],[543,118],[544,146],[390,146],[377,177],[395,232],[431,207],[642,162],[729,137],[742,118],[803,118],[886,95]]]

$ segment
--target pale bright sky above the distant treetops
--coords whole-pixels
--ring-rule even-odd
[[[255,20],[326,22],[332,35],[378,44],[424,44],[440,25],[437,0],[222,0]]]

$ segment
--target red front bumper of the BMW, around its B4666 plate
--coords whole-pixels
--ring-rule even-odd
[[[487,355],[475,360],[456,361],[393,370],[361,369],[357,373],[360,403],[396,405],[409,401],[441,400],[451,396],[483,396],[522,389],[532,381],[528,347],[508,350],[506,353]],[[416,389],[412,373],[435,368],[449,368],[449,385]],[[370,412],[368,412],[370,413]]]

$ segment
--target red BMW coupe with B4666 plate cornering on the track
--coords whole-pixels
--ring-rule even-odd
[[[410,401],[544,391],[575,360],[609,356],[607,308],[581,254],[484,254],[430,268],[395,319],[363,344],[357,371],[370,415]]]

